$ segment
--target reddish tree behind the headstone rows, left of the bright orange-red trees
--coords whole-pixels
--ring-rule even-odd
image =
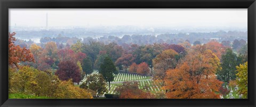
[[[135,58],[132,54],[123,54],[120,58],[118,58],[115,62],[115,65],[122,65],[125,68],[125,73],[127,73],[127,68],[132,65]]]

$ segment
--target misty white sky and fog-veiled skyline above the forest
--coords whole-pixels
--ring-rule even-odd
[[[20,9],[9,10],[9,31],[39,42],[42,37],[86,38],[247,31],[246,9]],[[37,36],[34,36],[37,33]],[[247,35],[246,35],[247,36]]]

